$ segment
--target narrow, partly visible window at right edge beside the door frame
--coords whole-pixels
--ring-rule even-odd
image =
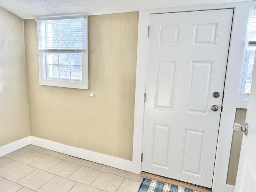
[[[248,34],[238,95],[238,98],[240,99],[248,99],[251,89],[252,69],[256,50],[256,9],[253,8],[254,7],[251,7],[251,14],[248,21]]]

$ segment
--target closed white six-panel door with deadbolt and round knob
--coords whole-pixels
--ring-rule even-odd
[[[142,171],[212,187],[232,16],[150,15]]]

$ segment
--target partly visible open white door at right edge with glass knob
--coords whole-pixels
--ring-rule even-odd
[[[256,60],[254,60],[256,66]],[[246,113],[248,134],[243,136],[235,192],[256,191],[256,69],[252,74],[250,98]]]

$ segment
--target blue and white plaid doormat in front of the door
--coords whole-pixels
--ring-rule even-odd
[[[186,187],[143,178],[138,192],[200,192]]]

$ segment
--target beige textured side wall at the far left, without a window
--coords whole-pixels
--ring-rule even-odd
[[[24,22],[0,7],[0,146],[30,135]]]

